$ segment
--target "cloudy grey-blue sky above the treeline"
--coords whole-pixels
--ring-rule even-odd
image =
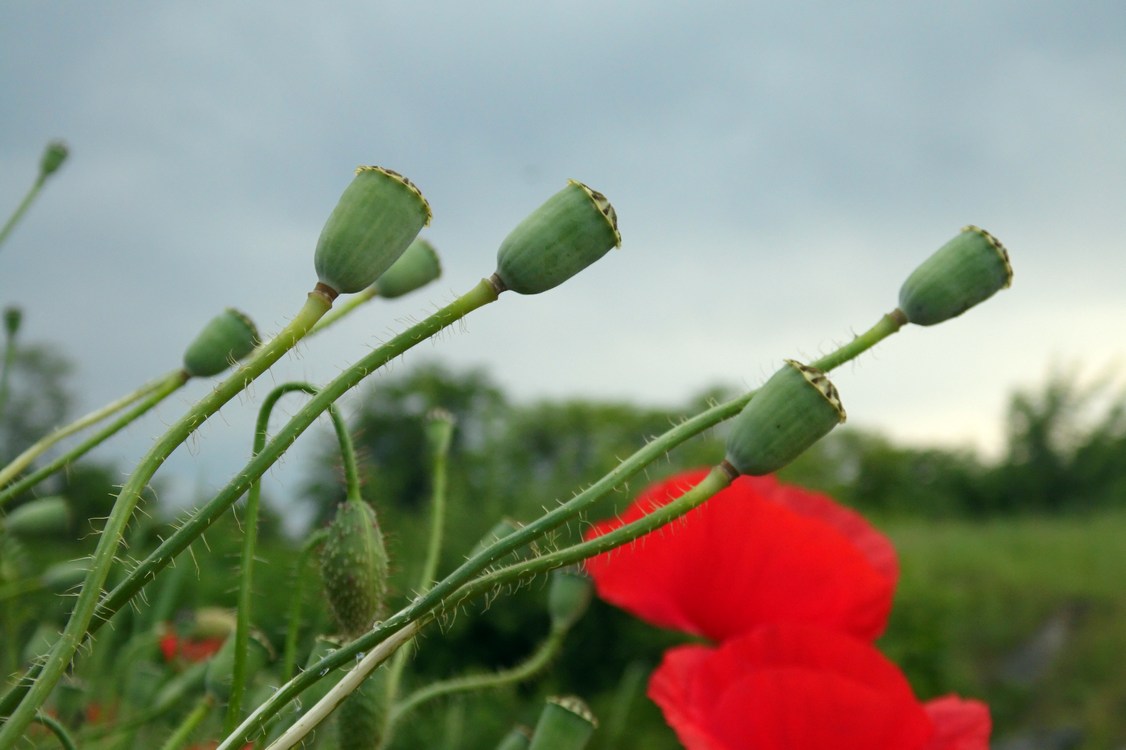
[[[47,139],[72,159],[0,250],[0,303],[93,408],[177,366],[224,306],[284,324],[354,167],[385,166],[429,198],[445,276],[272,376],[323,382],[491,274],[575,178],[614,203],[622,249],[406,361],[484,365],[525,400],[677,404],[866,329],[973,223],[1013,287],[833,380],[852,425],[989,449],[1015,389],[1123,364],[1124,38],[1114,0],[6,2],[0,207]],[[132,465],[206,387],[100,455]],[[229,405],[169,468],[220,484],[254,410]]]

